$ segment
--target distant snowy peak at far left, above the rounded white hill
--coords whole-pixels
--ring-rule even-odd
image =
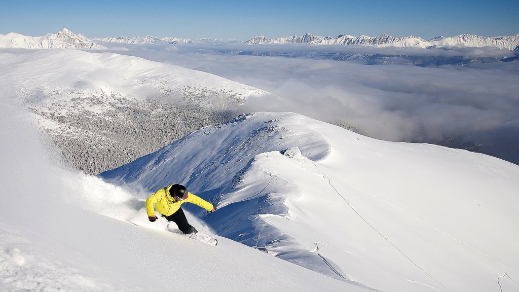
[[[58,33],[44,36],[26,36],[18,33],[0,34],[0,48],[24,49],[101,49],[82,34],[75,34],[66,28]]]

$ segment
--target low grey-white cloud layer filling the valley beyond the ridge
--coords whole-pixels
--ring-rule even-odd
[[[443,143],[519,164],[519,62],[496,60],[513,56],[513,52],[405,50],[408,54],[494,58],[481,62],[479,67],[486,69],[472,69],[365,65],[297,54],[294,58],[236,54],[243,47],[183,45],[174,51],[147,48],[126,54],[220,75],[276,95],[248,100],[245,111],[297,112],[327,122],[342,121],[379,139]],[[260,47],[264,51],[316,50],[316,46]],[[404,50],[363,49],[363,54]]]

